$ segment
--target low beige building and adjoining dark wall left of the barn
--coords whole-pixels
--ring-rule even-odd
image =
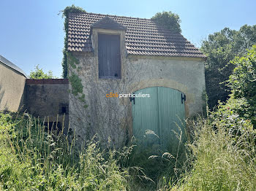
[[[69,125],[68,79],[28,79],[14,63],[0,55],[0,111],[26,112],[49,128]]]

